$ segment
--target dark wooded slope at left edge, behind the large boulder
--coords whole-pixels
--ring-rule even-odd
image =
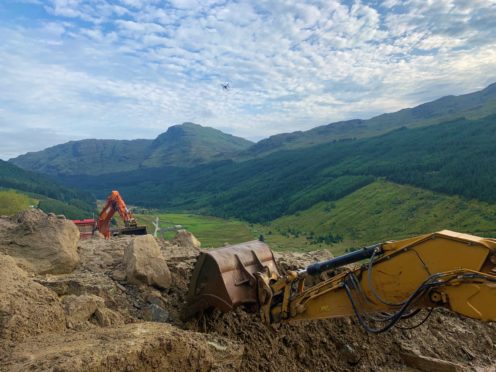
[[[13,192],[15,190],[17,192]],[[54,179],[21,169],[14,164],[0,160],[0,192],[3,200],[16,205],[39,203],[45,212],[65,214],[68,218],[91,217],[95,212],[96,201],[89,193],[70,189]],[[2,205],[8,210],[9,205]]]

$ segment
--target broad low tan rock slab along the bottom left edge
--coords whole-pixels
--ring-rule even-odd
[[[134,323],[65,335],[43,335],[16,345],[8,371],[232,371],[244,348],[212,334],[165,323]],[[0,368],[1,369],[1,368]]]

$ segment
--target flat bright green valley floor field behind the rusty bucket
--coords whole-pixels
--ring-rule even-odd
[[[225,220],[211,216],[200,216],[188,213],[157,213],[157,214],[137,214],[139,223],[145,224],[150,233],[153,233],[153,221],[159,217],[161,229],[181,225],[186,230],[193,233],[202,243],[202,247],[221,247],[226,243],[236,244],[253,240],[256,238],[250,226],[238,220]],[[159,236],[164,236],[164,231],[159,232]],[[174,232],[165,232],[165,237],[170,239]]]

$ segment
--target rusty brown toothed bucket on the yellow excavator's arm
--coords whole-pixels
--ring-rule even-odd
[[[253,274],[267,269],[279,274],[272,251],[258,240],[202,252],[191,277],[184,317],[212,307],[228,312],[240,305],[257,305]]]

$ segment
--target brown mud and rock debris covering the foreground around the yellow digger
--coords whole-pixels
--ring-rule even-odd
[[[417,329],[380,335],[365,333],[351,318],[273,329],[244,309],[183,322],[199,247],[182,242],[130,236],[79,241],[77,267],[56,275],[27,273],[16,266],[22,262],[0,255],[0,370],[425,371],[494,364],[496,326],[442,310]],[[143,265],[166,262],[166,286],[130,280],[126,253],[137,246],[152,247]],[[331,255],[276,257],[284,272]]]

